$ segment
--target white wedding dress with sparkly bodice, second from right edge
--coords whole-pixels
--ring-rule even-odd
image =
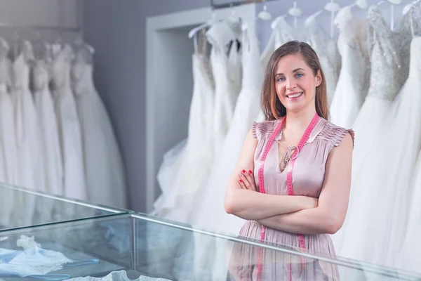
[[[390,110],[392,101],[408,77],[406,58],[408,58],[410,36],[407,32],[389,30],[377,6],[370,7],[368,18],[375,30],[371,53],[372,79],[368,96],[354,124],[356,145],[347,218],[340,231],[333,236],[333,242],[338,256],[385,265],[387,263],[385,251],[394,247],[394,245],[387,246],[389,245],[387,235],[391,231],[388,229],[387,220],[392,220],[390,217],[392,215],[387,216],[387,212],[397,211],[392,209],[392,203],[387,204],[390,202],[387,200],[390,200],[389,195],[393,194],[399,184],[396,183],[387,189],[382,184],[381,178],[387,173],[392,174],[394,169],[400,169],[399,165],[395,167],[390,162],[397,161],[396,158],[401,156],[396,154],[392,159],[389,158],[390,150],[394,150],[395,147],[385,145],[385,150],[381,150],[380,144],[390,138],[390,124],[397,120],[392,118],[396,117],[396,114]],[[403,30],[403,25],[401,29]],[[388,116],[392,117],[388,119]],[[399,117],[399,122],[402,118]],[[404,130],[400,123],[395,124],[392,127],[394,132],[399,133]],[[396,153],[405,153],[405,148],[399,143],[396,145],[398,145]],[[382,157],[385,159],[381,160]]]

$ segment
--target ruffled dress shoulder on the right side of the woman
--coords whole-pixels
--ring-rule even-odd
[[[345,129],[341,126],[337,126],[326,119],[320,118],[314,127],[309,137],[309,143],[314,141],[316,138],[327,141],[333,146],[338,146],[343,141],[347,134],[351,135],[352,143],[354,143],[354,131],[352,129]]]

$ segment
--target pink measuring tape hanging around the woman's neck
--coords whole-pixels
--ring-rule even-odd
[[[305,145],[306,141],[309,139],[310,133],[312,133],[314,127],[316,126],[317,122],[319,122],[319,115],[314,115],[312,122],[310,122],[309,126],[305,130],[304,135],[302,136],[300,143],[298,143],[298,150],[295,150],[293,155],[291,155],[290,162],[288,163],[288,166],[286,169],[288,169],[288,172],[286,174],[286,185],[288,190],[288,195],[292,196],[294,195],[293,190],[293,168],[295,164],[295,159],[297,159],[298,151],[301,151],[302,147]],[[283,124],[285,123],[285,118],[281,119],[281,122],[279,122],[278,126],[274,129],[274,132],[269,138],[269,141],[267,142],[267,145],[265,147],[265,150],[263,150],[262,158],[260,158],[260,169],[258,171],[258,178],[259,178],[259,191],[261,193],[265,193],[265,177],[263,175],[263,172],[265,170],[265,159],[269,153],[270,148],[272,147],[272,144],[274,143],[274,140],[276,136],[278,136],[279,131],[281,131]],[[265,234],[266,234],[266,226],[262,226],[260,230],[260,240],[265,240]],[[298,244],[300,245],[301,249],[306,249],[305,247],[305,238],[304,235],[298,234]],[[303,268],[304,268],[304,261]],[[262,268],[263,268],[263,248],[258,248],[258,280],[262,280]],[[290,265],[288,266],[288,280],[291,279],[292,268]]]

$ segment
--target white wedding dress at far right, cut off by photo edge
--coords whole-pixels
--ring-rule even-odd
[[[379,178],[378,192],[387,191],[387,196],[379,199],[377,206],[379,218],[385,226],[384,237],[379,237],[378,249],[387,248],[380,255],[387,256],[387,265],[421,273],[420,259],[416,251],[421,250],[417,239],[420,235],[420,195],[421,195],[421,37],[414,38],[410,44],[410,69],[399,96],[399,104],[392,105],[392,114],[386,122],[390,131],[381,143],[382,156],[379,160],[386,173]],[[396,109],[395,109],[396,107]],[[383,138],[385,139],[385,138]],[[391,149],[392,148],[392,149]],[[417,160],[418,158],[418,160]],[[391,163],[390,159],[394,159]],[[418,162],[418,164],[417,164]],[[415,169],[414,169],[415,168]],[[396,188],[399,187],[399,188]],[[382,190],[382,191],[380,191]],[[384,206],[380,208],[381,206]],[[389,213],[389,215],[387,215]],[[385,245],[389,245],[385,247]],[[377,251],[377,249],[376,249]],[[399,254],[401,254],[399,256]],[[416,266],[415,266],[416,265]]]

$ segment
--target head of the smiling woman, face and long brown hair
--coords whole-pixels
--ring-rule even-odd
[[[300,103],[290,103],[301,94],[305,96],[300,98]],[[276,50],[269,60],[262,107],[267,119],[273,120],[286,116],[287,108],[295,112],[306,105],[315,105],[317,114],[328,119],[326,81],[319,58],[308,44],[290,41]]]

